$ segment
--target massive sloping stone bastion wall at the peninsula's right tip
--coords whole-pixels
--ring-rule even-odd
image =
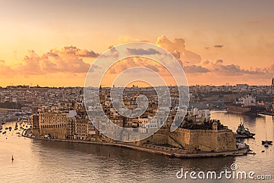
[[[195,151],[234,151],[236,141],[232,130],[186,130],[161,129],[149,138],[140,141],[140,144],[150,143],[155,145],[166,144],[180,149]]]

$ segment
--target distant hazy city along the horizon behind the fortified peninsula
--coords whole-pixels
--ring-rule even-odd
[[[134,95],[138,95],[138,92],[142,94],[142,90],[145,90],[145,95],[155,95],[153,88],[138,88],[138,86],[132,87],[131,91],[128,90],[127,93],[130,97],[134,97]],[[172,90],[171,88],[171,94]],[[271,86],[249,86],[247,84],[230,86],[227,84],[224,86],[189,86],[189,109],[225,110],[226,103],[234,102],[245,95],[253,95],[256,97],[256,101],[264,103],[266,108],[271,108],[273,101]],[[14,121],[12,114],[16,114],[18,117],[27,117],[29,114],[36,113],[37,110],[51,108],[73,110],[75,103],[82,102],[83,99],[84,88],[82,87],[0,87],[0,121]],[[175,103],[171,103],[171,105],[175,106]]]

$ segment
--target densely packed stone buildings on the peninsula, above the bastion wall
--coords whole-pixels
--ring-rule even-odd
[[[101,88],[99,96],[96,96],[92,90],[89,92],[89,96],[95,96],[89,101],[86,99],[86,103],[84,103],[83,97],[76,101],[74,106],[42,106],[38,108],[31,117],[33,134],[35,136],[49,135],[52,138],[92,140],[101,138],[102,133],[113,133],[114,129],[119,127],[132,129],[130,134],[134,134],[134,132],[147,134],[155,132],[159,128],[170,128],[174,125],[175,120],[184,124],[184,115],[177,115],[178,101],[176,101],[177,96],[174,96],[177,95],[175,92],[171,93],[171,98],[173,98],[171,103],[167,103],[165,97],[158,99],[155,90],[129,88],[121,97],[121,101],[116,102],[118,106],[115,106],[115,102],[113,102],[113,95],[116,94],[114,93],[110,97],[110,88]],[[142,95],[146,95],[147,100],[142,99]],[[96,101],[96,99],[99,100]],[[159,101],[161,107],[159,107]],[[142,111],[142,107],[146,107],[146,109]],[[138,113],[141,115],[132,117]],[[185,119],[194,123],[203,123],[210,119],[210,111],[191,108],[186,112]],[[130,134],[128,138],[132,138]]]

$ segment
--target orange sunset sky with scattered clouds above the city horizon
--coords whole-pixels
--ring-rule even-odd
[[[101,53],[134,41],[171,52],[190,85],[269,85],[273,7],[271,0],[0,0],[0,86],[84,86]]]

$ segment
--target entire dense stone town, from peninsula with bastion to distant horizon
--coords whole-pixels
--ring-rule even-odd
[[[160,87],[159,87],[160,88]],[[97,95],[97,100],[86,99],[84,93]],[[155,88],[141,88],[132,86],[123,90],[121,101],[115,106],[113,96],[122,88],[84,88],[81,87],[29,87],[8,86],[1,88],[1,123],[6,121],[25,121],[31,125],[32,136],[53,139],[71,139],[80,141],[139,141],[138,145],[154,144],[169,145],[186,150],[202,149],[204,151],[235,150],[235,138],[232,130],[221,124],[221,121],[210,119],[210,110],[225,110],[226,103],[235,101],[244,95],[253,95],[258,103],[271,106],[273,90],[270,86],[190,86],[189,106],[185,117],[176,115],[179,111],[178,90],[169,86],[171,103],[160,98]],[[249,93],[247,93],[247,91]],[[112,94],[112,96],[111,96]],[[142,96],[147,97],[147,104]],[[121,103],[123,103],[121,108]],[[162,107],[160,106],[162,103]],[[147,105],[147,106],[146,106]],[[147,107],[138,117],[125,117],[119,112],[140,110],[139,106]],[[101,109],[103,113],[100,113]],[[116,109],[119,108],[119,111]],[[95,115],[91,115],[95,114]],[[105,114],[105,115],[103,115]],[[157,114],[157,117],[155,115]],[[169,129],[179,121],[179,131],[174,135]],[[112,122],[112,123],[110,123]],[[121,128],[119,128],[121,127]],[[117,129],[123,129],[117,131]],[[125,131],[127,129],[129,131]],[[160,129],[158,132],[157,130]],[[181,130],[180,130],[181,129]],[[221,135],[225,145],[203,145],[186,140],[190,135],[199,131],[201,141]],[[157,133],[156,133],[157,132]],[[144,138],[146,134],[153,134],[152,138]],[[165,134],[167,138],[159,137]],[[203,135],[206,133],[207,135]],[[108,134],[105,136],[105,134]],[[190,137],[189,137],[190,135]],[[113,138],[109,138],[109,137]],[[149,139],[149,140],[148,140]],[[155,140],[157,139],[157,140]],[[188,142],[186,142],[188,141]],[[210,139],[208,139],[210,141]],[[219,143],[215,143],[219,144]]]

